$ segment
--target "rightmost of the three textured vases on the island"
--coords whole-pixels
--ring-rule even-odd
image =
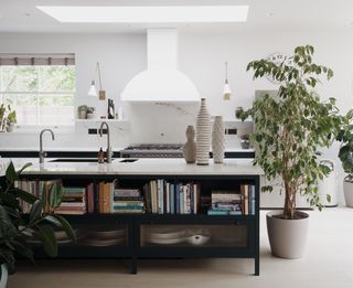
[[[213,162],[223,163],[224,149],[225,149],[225,137],[224,137],[223,117],[216,116],[214,118],[213,131],[212,131]]]

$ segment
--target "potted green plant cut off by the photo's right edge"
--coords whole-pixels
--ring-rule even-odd
[[[342,121],[341,131],[336,140],[341,141],[339,158],[347,175],[344,178],[343,192],[345,204],[353,207],[353,130],[352,130],[353,110],[350,110]]]

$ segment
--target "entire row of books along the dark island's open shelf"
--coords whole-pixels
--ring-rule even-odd
[[[42,198],[51,181],[18,181],[17,185]],[[44,192],[45,193],[45,192]],[[142,191],[120,189],[114,182],[90,183],[86,186],[64,186],[64,196],[56,212],[60,214],[85,213],[154,213],[248,215],[255,214],[255,185],[242,184],[240,190],[214,190],[201,196],[200,183],[170,183],[163,179],[151,180]],[[23,202],[24,213],[31,206]]]

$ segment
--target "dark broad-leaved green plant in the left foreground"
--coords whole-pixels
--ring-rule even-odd
[[[10,162],[6,175],[0,178],[0,264],[7,264],[10,273],[14,271],[17,256],[33,260],[31,239],[43,243],[45,253],[52,257],[57,255],[56,230],[65,231],[67,237],[76,242],[68,222],[54,214],[64,195],[58,182],[45,182],[42,199],[15,188],[15,181],[29,166],[15,171]],[[30,205],[29,215],[22,213],[21,202]]]

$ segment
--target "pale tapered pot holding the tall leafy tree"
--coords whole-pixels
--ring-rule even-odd
[[[309,214],[297,212],[302,215],[300,220],[284,220],[274,217],[281,211],[269,212],[266,215],[267,233],[271,253],[274,256],[287,259],[297,259],[303,255],[309,230]]]

